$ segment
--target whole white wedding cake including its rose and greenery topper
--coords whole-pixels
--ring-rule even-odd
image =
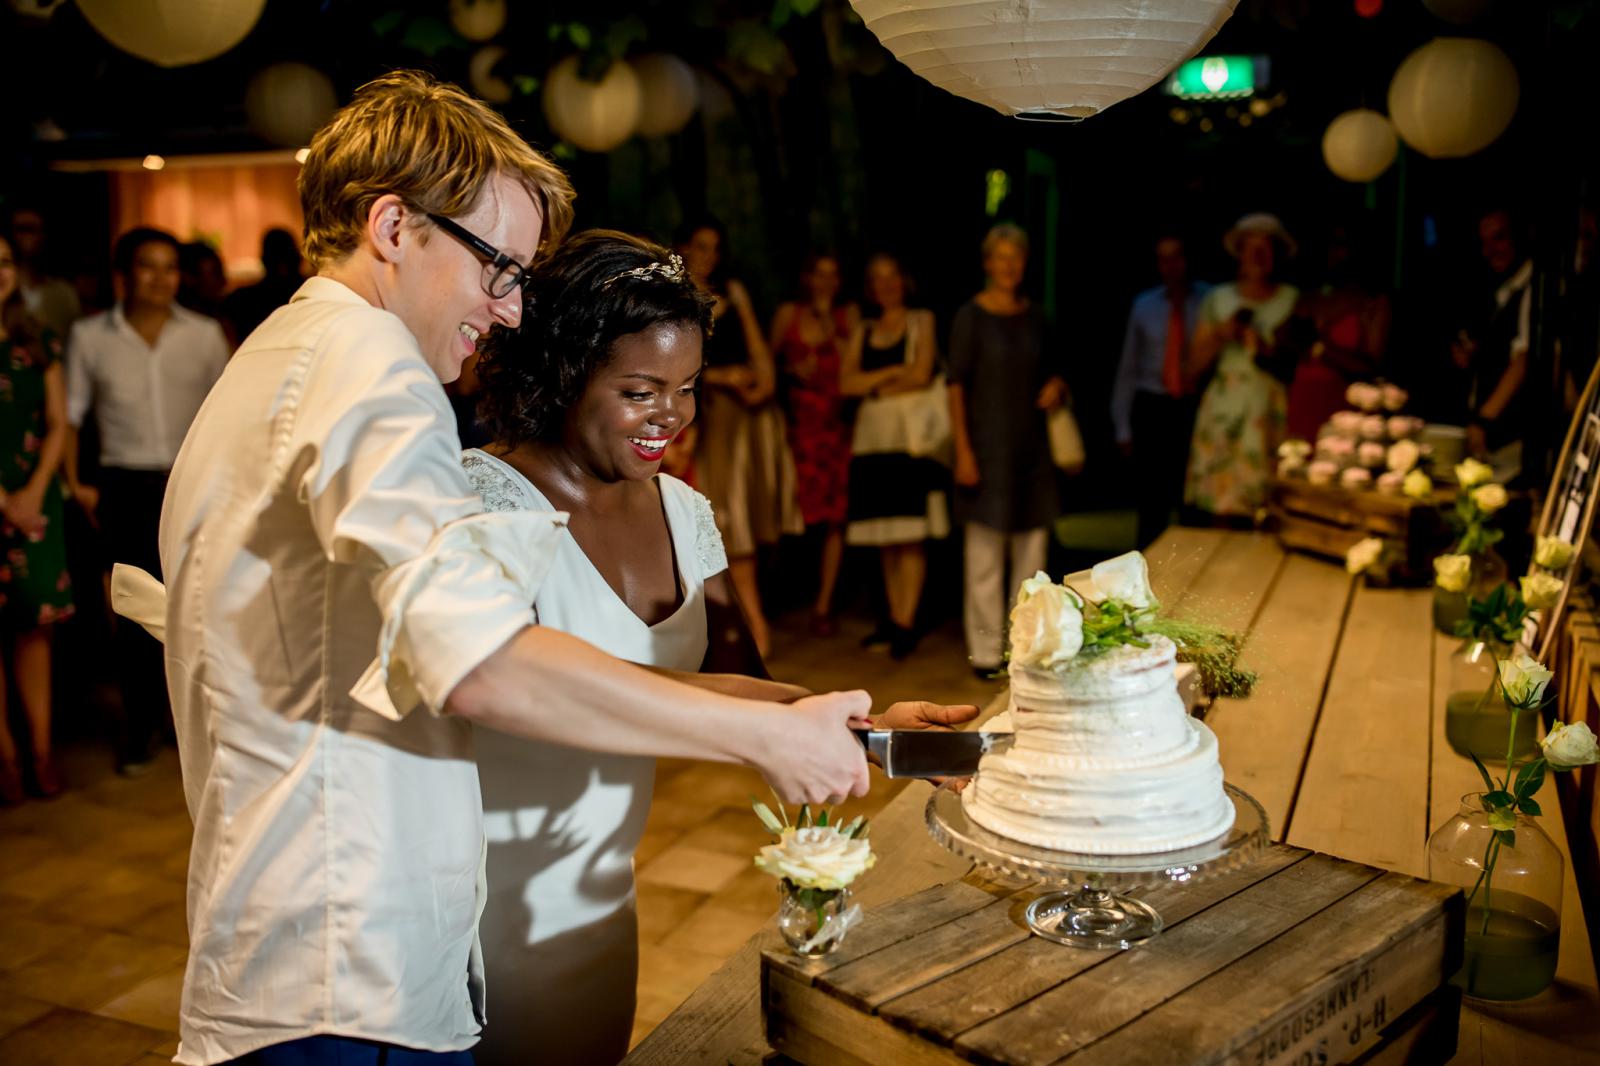
[[[1014,840],[1090,855],[1221,836],[1234,804],[1216,736],[1178,695],[1173,642],[1138,626],[1155,608],[1144,559],[1123,555],[1069,581],[1072,589],[1038,575],[1018,597],[1016,743],[984,755],[962,794],[968,815]]]

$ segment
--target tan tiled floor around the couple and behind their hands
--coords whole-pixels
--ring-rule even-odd
[[[814,690],[866,687],[894,699],[982,703],[997,685],[966,669],[958,629],[931,634],[906,663],[862,651],[866,623],[805,635],[778,627],[776,677]],[[178,1048],[189,816],[178,759],[138,779],[98,747],[62,752],[74,787],[0,810],[0,1063],[154,1066]],[[766,834],[749,808],[754,771],[664,760],[637,853],[638,1040],[776,911],[773,880],[750,864]],[[882,776],[846,816],[898,789]],[[867,874],[870,877],[870,874]]]

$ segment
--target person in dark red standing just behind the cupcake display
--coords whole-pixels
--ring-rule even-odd
[[[1315,440],[1346,389],[1378,376],[1389,347],[1392,307],[1373,277],[1371,238],[1334,227],[1322,287],[1299,298],[1278,338],[1288,379],[1288,435]]]

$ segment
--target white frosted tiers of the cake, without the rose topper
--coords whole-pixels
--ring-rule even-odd
[[[1176,648],[1118,645],[1051,669],[1011,663],[1016,743],[962,792],[973,821],[1058,852],[1142,855],[1234,824],[1216,736],[1178,695]]]

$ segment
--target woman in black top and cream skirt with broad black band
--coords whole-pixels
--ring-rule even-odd
[[[840,391],[864,397],[850,458],[845,539],[878,549],[888,618],[862,640],[902,659],[917,648],[917,607],[928,573],[923,541],[950,531],[941,456],[950,445],[949,400],[933,381],[933,312],[906,306],[899,259],[867,261],[867,320],[850,336]]]

